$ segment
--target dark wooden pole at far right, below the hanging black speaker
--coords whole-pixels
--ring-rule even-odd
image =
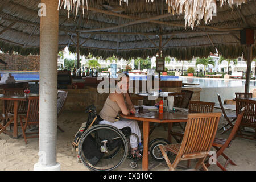
[[[251,73],[251,60],[253,59],[253,46],[246,45],[246,60],[247,60],[247,69],[246,69],[246,80],[245,80],[245,93],[250,92],[250,73]]]

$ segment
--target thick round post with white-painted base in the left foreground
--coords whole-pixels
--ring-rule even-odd
[[[39,162],[35,171],[57,171],[57,53],[58,1],[42,0],[46,16],[40,20]]]

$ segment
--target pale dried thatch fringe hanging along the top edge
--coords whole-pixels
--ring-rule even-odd
[[[70,12],[72,12],[73,10],[75,11],[75,8],[75,15],[77,16],[81,3],[82,7],[84,7],[84,1],[86,1],[86,7],[88,7],[88,0],[59,0],[59,9],[64,3],[64,9],[68,10],[68,18]],[[128,6],[128,0],[119,1],[120,5],[123,1],[126,2]],[[154,0],[146,0],[146,2],[150,1],[154,2]],[[189,27],[193,28],[195,22],[199,24],[201,19],[204,19],[204,22],[206,24],[209,23],[210,20],[212,20],[212,16],[216,15],[217,13],[216,1],[220,2],[221,7],[222,5],[224,5],[224,3],[228,3],[228,5],[232,7],[232,5],[238,6],[246,2],[246,0],[166,0],[166,4],[168,5],[169,13],[184,14],[185,26],[188,25]],[[82,10],[82,13],[84,14],[84,8]]]

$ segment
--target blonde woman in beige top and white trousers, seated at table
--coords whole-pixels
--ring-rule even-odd
[[[115,86],[115,92],[109,94],[102,110],[100,111],[100,124],[112,125],[118,129],[130,127],[131,133],[137,134],[139,138],[139,141],[137,141],[137,138],[134,135],[130,135],[131,153],[134,156],[133,151],[135,150],[137,157],[141,157],[138,150],[138,142],[141,142],[141,131],[139,130],[137,121],[119,118],[118,115],[120,111],[123,115],[135,113],[135,108],[131,102],[128,90],[129,75],[127,73],[119,74],[118,82]]]

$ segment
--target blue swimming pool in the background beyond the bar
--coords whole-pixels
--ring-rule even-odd
[[[20,72],[20,71],[0,71],[1,76],[11,73],[14,79],[19,80],[39,80],[39,72]],[[147,80],[147,75],[129,74],[131,80]],[[158,78],[158,75],[155,75]],[[188,78],[179,76],[162,75],[161,80],[182,80],[183,83],[200,84],[199,87],[236,87],[245,86],[245,80],[224,80],[219,78]],[[250,81],[250,86],[256,86],[256,81]]]

